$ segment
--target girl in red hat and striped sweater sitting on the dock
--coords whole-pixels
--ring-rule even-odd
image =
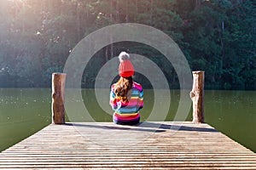
[[[129,54],[119,54],[119,81],[111,86],[110,105],[114,111],[113,122],[134,125],[140,122],[143,108],[143,87],[133,82],[134,68]]]

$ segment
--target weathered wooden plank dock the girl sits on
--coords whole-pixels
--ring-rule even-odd
[[[255,153],[209,125],[177,128],[177,122],[49,125],[4,150],[0,169],[256,169]]]

